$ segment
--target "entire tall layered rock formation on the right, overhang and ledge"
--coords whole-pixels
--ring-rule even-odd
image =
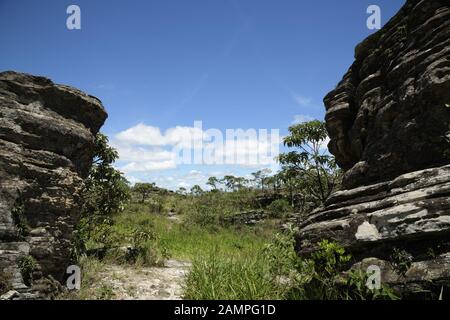
[[[355,55],[324,100],[344,190],[301,223],[298,251],[336,241],[404,297],[436,297],[450,284],[450,4],[407,1]]]

